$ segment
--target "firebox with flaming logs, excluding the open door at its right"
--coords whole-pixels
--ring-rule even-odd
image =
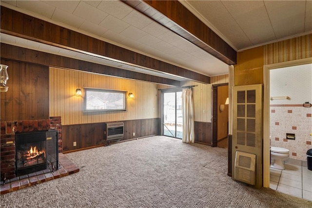
[[[15,135],[17,176],[47,169],[46,132]]]

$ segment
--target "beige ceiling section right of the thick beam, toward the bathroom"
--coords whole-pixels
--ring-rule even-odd
[[[236,51],[312,33],[312,0],[180,2]]]

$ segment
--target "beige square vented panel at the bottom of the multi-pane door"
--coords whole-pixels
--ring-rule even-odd
[[[253,153],[236,151],[234,178],[247,184],[255,185],[255,157]]]

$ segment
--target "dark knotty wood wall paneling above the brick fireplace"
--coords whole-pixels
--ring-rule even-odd
[[[1,64],[9,66],[1,121],[49,119],[49,68],[6,59]]]

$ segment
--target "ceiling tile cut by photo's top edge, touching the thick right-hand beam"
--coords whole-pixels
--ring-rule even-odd
[[[102,0],[97,8],[118,19],[123,19],[132,11],[129,6],[116,0]]]

